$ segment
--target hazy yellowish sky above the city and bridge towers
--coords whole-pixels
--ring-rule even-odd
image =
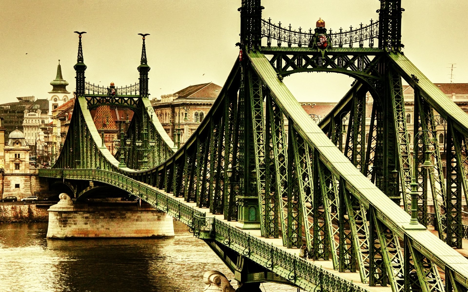
[[[263,18],[315,27],[321,17],[337,30],[378,19],[378,0],[263,0]],[[138,82],[141,36],[146,37],[150,98],[189,85],[223,86],[239,53],[241,0],[0,0],[0,103],[47,98],[58,60],[75,88],[78,35],[86,80],[116,86]],[[434,83],[468,83],[468,1],[402,0],[403,52]],[[353,79],[299,73],[284,79],[299,101],[338,101]]]

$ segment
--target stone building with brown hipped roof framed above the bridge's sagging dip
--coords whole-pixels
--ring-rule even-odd
[[[154,115],[174,141],[180,133],[182,145],[203,120],[220,91],[221,86],[210,82],[161,95],[160,100],[152,101]]]

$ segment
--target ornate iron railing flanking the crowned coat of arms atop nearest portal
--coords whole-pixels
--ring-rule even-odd
[[[358,28],[353,28],[350,26],[349,30],[343,31],[343,28],[339,29],[339,32],[333,33],[329,30],[329,41],[331,45],[336,47],[343,47],[344,45],[349,45],[350,48],[354,44],[358,44],[359,47],[364,47],[364,41],[368,40],[369,47],[374,46],[374,39],[379,36],[379,21],[373,21],[368,25],[363,25],[362,23]],[[293,44],[298,45],[299,47],[308,46],[314,33],[312,28],[307,31],[302,31],[302,28],[298,30],[292,30],[291,24],[288,27],[281,27],[281,21],[278,24],[271,23],[271,19],[268,21],[262,19],[262,37],[267,38],[267,46],[271,46],[272,40],[277,40],[278,47],[281,47],[283,43],[287,43],[288,47],[291,47]]]

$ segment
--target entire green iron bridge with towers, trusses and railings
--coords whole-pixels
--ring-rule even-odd
[[[77,32],[70,128],[56,163],[39,175],[77,185],[77,202],[90,188],[79,189],[82,181],[135,194],[187,224],[242,291],[258,291],[264,281],[307,291],[467,291],[468,260],[456,249],[466,232],[468,115],[403,55],[401,0],[380,0],[378,21],[338,32],[323,21],[314,30],[284,28],[263,20],[262,9],[260,0],[242,0],[240,54],[180,148],[153,119],[147,35],[139,83],[103,88],[85,81],[84,32]],[[311,71],[356,79],[318,124],[282,82]],[[414,142],[402,79],[415,92]],[[366,141],[367,92],[374,101]],[[134,111],[115,156],[91,118],[100,105]],[[434,214],[427,211],[430,196]],[[307,259],[297,256],[303,242]]]

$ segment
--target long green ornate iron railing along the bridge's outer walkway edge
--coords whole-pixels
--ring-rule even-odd
[[[206,213],[199,213],[184,202],[125,175],[100,169],[40,169],[39,176],[94,180],[131,192],[154,208],[187,224],[198,238],[222,242],[301,287],[313,287],[315,284],[321,291],[368,291],[234,226],[214,217],[206,217]]]

